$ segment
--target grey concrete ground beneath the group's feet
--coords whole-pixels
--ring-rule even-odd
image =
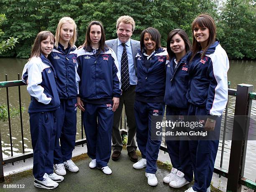
[[[147,184],[145,177],[145,168],[141,170],[133,169],[131,162],[128,158],[127,151],[122,150],[121,159],[114,162],[110,159],[109,167],[112,169],[112,175],[105,175],[101,170],[90,169],[90,158],[86,154],[73,157],[79,167],[79,172],[72,173],[67,171],[63,182],[51,191],[56,192],[184,192],[189,185],[180,188],[179,190],[173,189],[162,182],[163,177],[169,173],[165,167],[160,164],[156,177],[159,182],[156,187],[151,187]],[[24,188],[4,188],[7,185],[10,187],[23,187]],[[5,182],[0,184],[0,191],[11,192],[38,192],[46,191],[33,186],[32,170],[20,172],[15,175],[5,177]]]

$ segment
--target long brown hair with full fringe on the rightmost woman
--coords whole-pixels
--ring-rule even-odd
[[[215,38],[216,38],[216,25],[213,18],[208,13],[201,14],[198,17],[196,17],[195,20],[192,22],[193,42],[192,42],[192,57],[190,61],[193,60],[197,52],[202,50],[200,42],[197,42],[194,36],[194,28],[196,26],[207,27],[209,29],[209,38],[207,41],[207,46],[205,47],[205,50],[202,52],[201,58],[205,56],[205,52],[208,50],[210,45],[212,45],[215,42]]]

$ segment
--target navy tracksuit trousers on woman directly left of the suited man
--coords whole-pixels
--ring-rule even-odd
[[[96,159],[97,167],[108,166],[114,112],[113,104],[84,102],[83,124],[87,140],[87,154]]]

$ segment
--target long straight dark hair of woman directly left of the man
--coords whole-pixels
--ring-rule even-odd
[[[90,30],[91,30],[92,25],[99,25],[101,28],[101,38],[100,38],[100,42],[99,42],[99,48],[100,48],[100,50],[102,50],[104,52],[104,47],[107,47],[107,45],[105,44],[106,37],[105,37],[104,27],[100,21],[90,22],[90,24],[87,27],[84,44],[82,46],[92,47],[92,41],[90,39]]]

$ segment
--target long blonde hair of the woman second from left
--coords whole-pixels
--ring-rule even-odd
[[[59,44],[60,28],[66,22],[74,25],[74,33],[73,33],[72,38],[69,40],[69,45],[71,47],[74,47],[74,44],[77,41],[77,25],[76,25],[76,23],[74,22],[74,20],[71,17],[62,17],[59,20],[59,23],[58,23],[58,26],[57,26],[57,29],[56,29],[55,44],[54,44],[56,47],[58,47],[58,44]]]

